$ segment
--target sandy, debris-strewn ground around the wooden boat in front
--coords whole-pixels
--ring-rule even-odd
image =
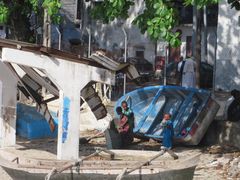
[[[85,135],[90,135],[92,133],[93,132],[87,132]],[[106,147],[105,138],[94,139],[88,144],[80,145],[80,156],[89,155],[95,152],[94,147]],[[158,151],[159,147],[160,144],[158,142],[144,142],[135,139],[133,145],[128,148],[134,150]],[[26,158],[44,157],[46,159],[51,159],[56,158],[57,141],[55,139],[28,141],[26,139],[18,138],[15,147],[10,147],[5,150],[10,153],[15,153],[17,156],[24,156]],[[236,174],[233,176],[229,173],[229,167],[234,159],[238,158],[239,161],[237,166],[240,166],[240,151],[237,151],[232,147],[175,147],[173,150],[176,154],[186,157],[193,153],[201,153],[200,162],[195,170],[194,180],[240,179],[240,176]],[[4,170],[0,169],[0,179],[10,180],[11,177],[9,177]]]

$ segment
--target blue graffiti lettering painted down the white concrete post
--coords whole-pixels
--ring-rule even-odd
[[[68,136],[68,125],[69,125],[69,110],[70,109],[70,99],[64,97],[63,99],[63,125],[62,125],[62,143],[64,143]]]

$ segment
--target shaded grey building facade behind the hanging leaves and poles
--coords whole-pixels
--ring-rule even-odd
[[[62,29],[62,48],[87,56],[89,49],[104,49],[110,51],[116,58],[123,57],[125,35],[127,34],[127,56],[145,58],[153,65],[159,58],[166,57],[166,42],[151,41],[147,34],[141,34],[138,27],[132,24],[134,18],[144,8],[144,0],[135,2],[135,6],[129,10],[129,18],[126,21],[115,20],[110,24],[102,24],[100,21],[93,20],[90,16],[90,8],[99,0],[62,0],[62,13],[64,14],[65,24]],[[192,7],[179,5],[180,25],[174,29],[181,33],[181,47],[169,47],[168,60],[178,61],[180,56],[186,57],[192,53]],[[212,15],[209,14],[211,18]],[[215,20],[215,19],[214,19]],[[214,21],[213,20],[213,21]],[[124,29],[124,30],[123,30]],[[55,37],[57,33],[55,32]],[[202,37],[204,37],[204,33]],[[58,38],[54,38],[58,39]],[[214,63],[216,46],[216,21],[209,23],[206,32],[207,48],[204,38],[202,43],[202,60],[210,64]],[[88,42],[91,42],[90,44]],[[53,43],[57,47],[57,41]],[[207,51],[207,52],[206,52]]]

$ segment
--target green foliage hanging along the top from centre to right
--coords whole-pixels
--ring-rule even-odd
[[[141,33],[147,32],[152,40],[163,39],[171,46],[179,46],[179,33],[173,32],[174,26],[178,24],[178,12],[175,8],[176,0],[144,0],[144,9],[138,12],[133,24],[137,25]],[[204,5],[217,3],[218,0],[184,0],[185,5]],[[104,0],[94,6],[92,16],[100,19],[103,23],[109,23],[115,18],[127,19],[128,10],[134,6],[134,0]]]

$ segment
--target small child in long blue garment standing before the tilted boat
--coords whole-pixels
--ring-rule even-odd
[[[163,142],[161,149],[171,149],[172,148],[172,141],[173,141],[173,123],[170,120],[170,114],[164,114],[163,120],[161,122],[161,126],[163,127]]]

